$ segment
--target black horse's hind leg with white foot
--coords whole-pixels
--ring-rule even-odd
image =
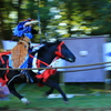
[[[16,88],[14,88],[14,84],[13,84],[13,83],[10,83],[10,84],[8,85],[8,88],[9,88],[10,93],[12,93],[12,94],[16,95],[17,98],[19,98],[23,103],[26,103],[26,104],[29,104],[29,103],[30,103],[30,101],[29,101],[27,98],[20,95],[20,94],[16,91]]]

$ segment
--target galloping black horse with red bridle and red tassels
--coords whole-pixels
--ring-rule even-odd
[[[37,57],[38,68],[51,67],[49,64],[52,63],[52,61],[54,61],[56,59],[59,59],[59,58],[64,59],[69,62],[75,61],[75,57],[67,48],[67,46],[64,44],[63,41],[46,42],[39,50],[31,52],[29,54],[29,57],[30,57],[29,61],[28,61],[29,65],[32,64],[32,60],[33,60],[33,57],[34,57],[36,53],[38,53],[38,57]],[[9,68],[8,67],[8,60],[9,60],[9,56],[6,56],[6,54],[2,56],[1,54],[1,57],[0,57],[0,68]],[[17,84],[17,83],[29,82],[29,83],[40,83],[42,85],[48,85],[51,89],[46,92],[47,95],[52,93],[53,89],[57,89],[61,93],[61,95],[63,97],[63,100],[68,101],[65,93],[61,90],[59,84],[50,79],[50,75],[52,75],[54,73],[56,69],[47,69],[44,71],[47,71],[48,75],[46,75],[46,73],[41,73],[41,70],[38,71],[38,73],[41,73],[41,74],[37,74],[32,70],[27,70],[26,71],[27,75],[20,73],[21,71],[18,71],[18,70],[14,70],[14,69],[13,70],[0,70],[0,78],[6,81],[6,83],[9,88],[9,91],[13,95],[19,98],[26,104],[28,104],[30,102],[27,98],[20,95],[16,91],[14,84]]]

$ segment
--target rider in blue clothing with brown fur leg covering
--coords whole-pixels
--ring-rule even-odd
[[[13,36],[20,38],[17,46],[11,50],[13,68],[21,68],[22,63],[26,61],[30,48],[30,40],[33,38],[33,34],[38,33],[38,31],[32,28],[32,24],[38,22],[39,21],[37,20],[28,18],[27,20],[19,22],[13,29]]]

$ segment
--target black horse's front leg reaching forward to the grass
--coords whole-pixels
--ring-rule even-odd
[[[48,80],[47,82],[44,82],[44,84],[52,88],[49,91],[53,91],[53,89],[57,89],[61,93],[61,95],[63,97],[64,102],[65,103],[68,102],[68,98],[67,98],[65,93],[61,90],[61,88],[59,87],[58,83],[56,83],[52,80]]]

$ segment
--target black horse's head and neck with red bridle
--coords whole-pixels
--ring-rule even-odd
[[[42,59],[46,57],[47,60],[52,60],[56,57],[64,59],[69,62],[74,62],[75,57],[68,49],[63,41],[46,42],[38,52],[38,58]],[[46,60],[44,60],[46,61]]]

